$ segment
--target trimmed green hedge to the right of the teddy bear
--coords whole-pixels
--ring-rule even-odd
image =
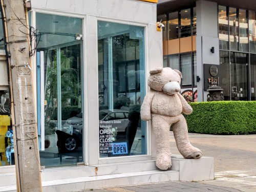
[[[191,102],[193,113],[184,115],[188,132],[238,135],[256,133],[256,101]]]

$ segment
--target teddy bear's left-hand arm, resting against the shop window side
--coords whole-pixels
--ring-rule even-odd
[[[144,97],[143,103],[140,109],[140,117],[144,121],[149,121],[151,119],[151,103],[154,98],[155,93],[150,90]]]

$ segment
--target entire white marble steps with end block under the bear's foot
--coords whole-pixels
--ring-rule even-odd
[[[172,156],[172,170],[159,170],[154,160],[95,166],[59,167],[42,170],[44,191],[79,191],[164,181],[201,181],[214,179],[214,158],[184,159]],[[15,172],[0,174],[0,192],[15,191]]]

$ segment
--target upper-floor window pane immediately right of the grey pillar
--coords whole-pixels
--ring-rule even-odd
[[[219,6],[219,46],[220,49],[228,50],[228,17],[225,6]]]

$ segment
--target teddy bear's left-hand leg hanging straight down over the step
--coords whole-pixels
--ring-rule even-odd
[[[158,115],[154,115],[151,120],[156,139],[156,166],[166,170],[172,166],[169,143],[170,124]]]

